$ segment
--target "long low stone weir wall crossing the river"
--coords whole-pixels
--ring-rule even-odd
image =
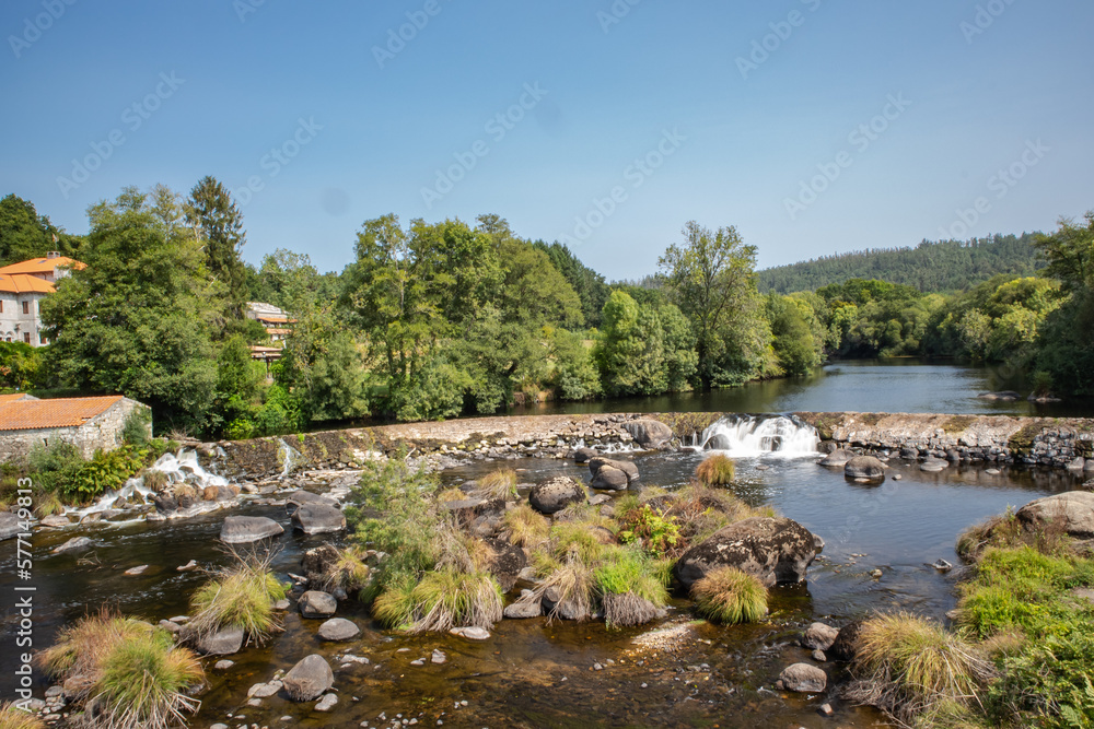
[[[1094,420],[938,415],[905,413],[800,412],[828,448],[891,451],[905,458],[1078,467],[1094,459]],[[598,450],[665,448],[693,443],[726,413],[615,413],[472,418],[428,423],[305,433],[283,437],[203,444],[217,447],[225,475],[264,478],[298,467],[358,468],[377,454],[406,451],[433,459],[567,458],[575,448]],[[1094,461],[1087,470],[1094,469]]]

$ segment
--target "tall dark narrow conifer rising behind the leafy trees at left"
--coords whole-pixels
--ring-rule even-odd
[[[240,257],[247,234],[243,230],[243,213],[232,200],[228,188],[213,177],[202,177],[184,208],[186,223],[205,246],[206,266],[223,282],[235,316],[243,316],[247,301],[247,272]]]

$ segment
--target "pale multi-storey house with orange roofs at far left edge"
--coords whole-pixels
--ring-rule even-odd
[[[47,344],[38,304],[56,291],[57,281],[71,269],[83,267],[80,261],[53,252],[0,268],[0,340],[31,346]]]

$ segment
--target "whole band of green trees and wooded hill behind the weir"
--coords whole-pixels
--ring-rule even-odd
[[[0,254],[49,249],[48,220],[3,202]],[[655,274],[610,284],[492,214],[365,221],[340,273],[288,250],[252,267],[242,213],[212,178],[186,197],[126,188],[89,222],[58,238],[88,266],[43,301],[53,343],[0,343],[0,386],[120,391],[159,431],[435,420],[807,375],[830,357],[997,362],[1038,395],[1094,393],[1094,213],[1048,236],[837,256],[794,275],[757,272],[735,228],[693,221]],[[254,301],[288,311],[288,333],[246,318]],[[258,345],[280,350],[268,369]]]

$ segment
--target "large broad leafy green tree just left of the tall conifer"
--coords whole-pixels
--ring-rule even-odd
[[[197,433],[210,423],[211,333],[226,292],[182,215],[177,196],[159,186],[93,205],[88,267],[43,299],[42,320],[65,384],[141,400],[164,424]]]

